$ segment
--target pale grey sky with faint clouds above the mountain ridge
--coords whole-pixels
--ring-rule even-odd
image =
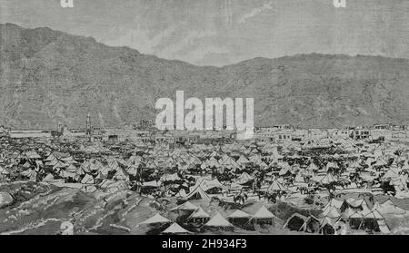
[[[0,0],[0,23],[50,27],[197,65],[254,57],[409,58],[408,0]]]

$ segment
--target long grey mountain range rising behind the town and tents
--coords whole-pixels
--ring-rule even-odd
[[[409,60],[300,54],[195,66],[49,28],[0,24],[0,124],[155,121],[158,98],[253,97],[254,125],[409,124]]]

